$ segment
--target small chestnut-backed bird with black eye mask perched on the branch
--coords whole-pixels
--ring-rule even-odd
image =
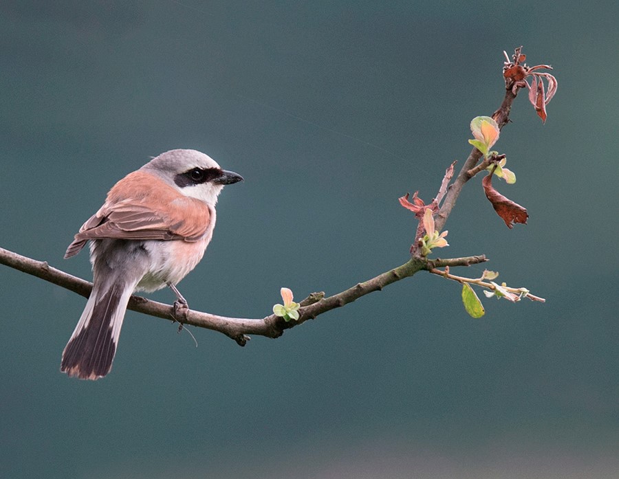
[[[63,350],[61,371],[99,379],[111,370],[134,291],[170,287],[175,308],[187,308],[176,285],[204,256],[213,237],[215,204],[225,185],[243,181],[196,150],[176,149],[118,181],[105,203],[67,248],[71,258],[89,241],[93,287]]]

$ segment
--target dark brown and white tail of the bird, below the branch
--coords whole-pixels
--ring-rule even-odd
[[[132,291],[133,287],[127,287],[122,281],[105,290],[94,287],[63,351],[61,371],[80,379],[99,379],[107,375]]]

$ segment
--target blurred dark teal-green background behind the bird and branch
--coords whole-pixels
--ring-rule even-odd
[[[194,309],[262,317],[279,288],[336,293],[404,263],[468,124],[503,96],[503,49],[550,63],[495,183],[475,179],[441,256],[487,254],[546,304],[427,274],[246,348],[130,312],[109,377],[67,379],[85,300],[0,267],[3,478],[616,478],[619,460],[615,2],[5,0],[0,246],[90,279],[65,248],[149,156],[196,148],[224,190]],[[484,267],[459,269],[478,276]],[[170,302],[169,291],[153,298]]]

